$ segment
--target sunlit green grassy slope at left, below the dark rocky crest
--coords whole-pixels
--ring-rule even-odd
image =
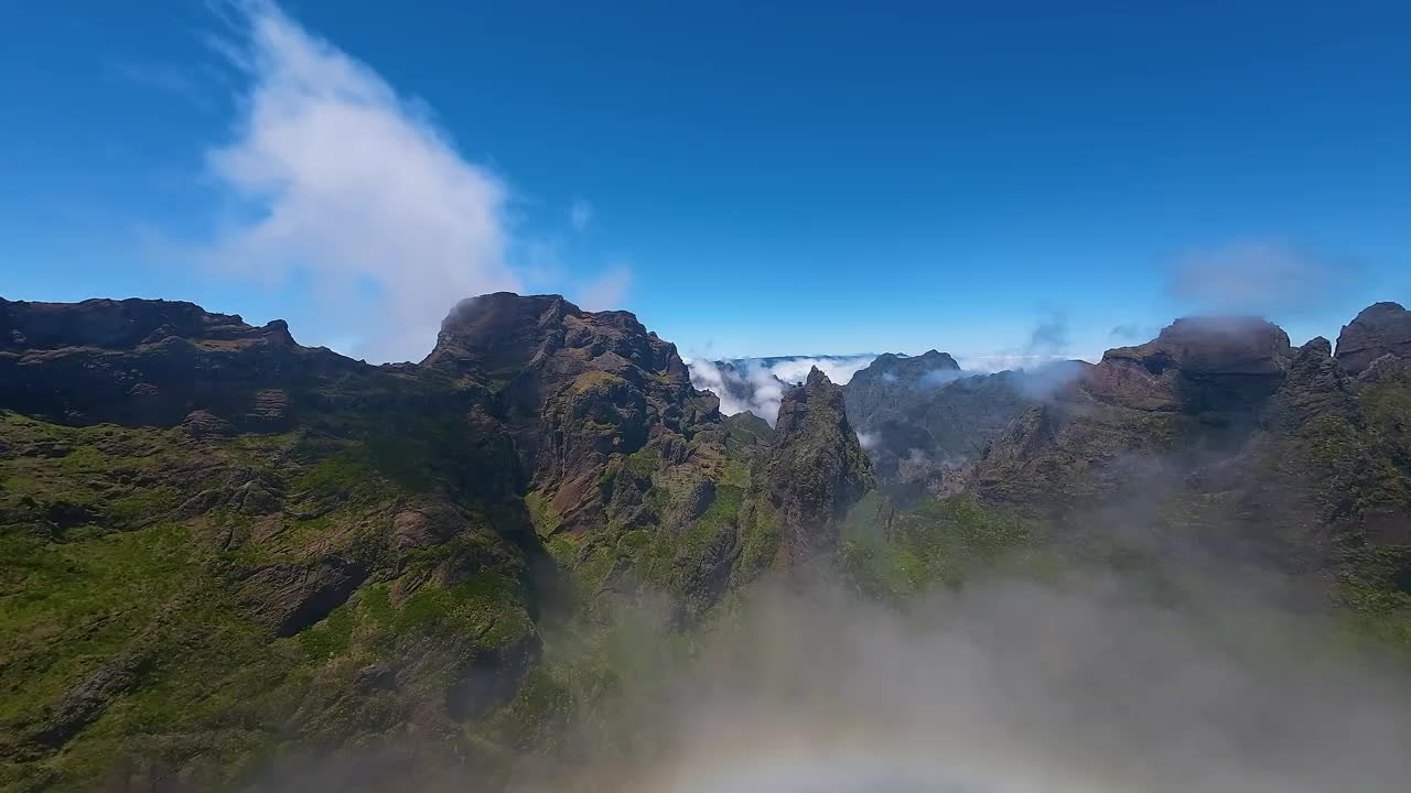
[[[439,435],[346,435],[196,440],[0,416],[0,787],[92,789],[162,763],[238,777],[415,721],[456,659],[532,635],[523,560],[474,514],[454,542],[387,557],[391,515],[444,484],[426,470]],[[241,480],[275,508],[188,501]],[[375,573],[293,636],[251,618],[243,571],[330,552]],[[435,574],[449,562],[459,580]],[[140,659],[135,680],[73,739],[44,739],[66,694],[123,658]]]

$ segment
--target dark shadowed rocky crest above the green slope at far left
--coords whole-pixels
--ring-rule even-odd
[[[0,299],[0,405],[65,423],[171,426],[205,412],[236,429],[288,429],[301,399],[368,368],[295,344],[282,320],[165,301]]]

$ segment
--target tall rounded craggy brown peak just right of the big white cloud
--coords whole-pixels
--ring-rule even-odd
[[[584,312],[557,295],[471,298],[442,323],[422,367],[494,394],[491,411],[562,531],[597,525],[614,501],[641,507],[601,487],[614,454],[650,447],[680,466],[724,453],[720,402],[691,387],[674,344],[628,312]]]

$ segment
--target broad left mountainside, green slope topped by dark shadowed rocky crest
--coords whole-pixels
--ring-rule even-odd
[[[207,787],[234,768],[213,752],[507,701],[553,583],[494,413],[282,322],[0,301],[0,597],[24,604],[0,618],[0,779],[157,762]]]

